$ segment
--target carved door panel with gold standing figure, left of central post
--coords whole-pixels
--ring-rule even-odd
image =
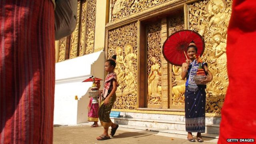
[[[161,104],[161,22],[146,27],[148,55],[148,105]]]

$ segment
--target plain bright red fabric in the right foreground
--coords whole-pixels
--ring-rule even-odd
[[[226,48],[229,86],[218,144],[227,144],[228,138],[256,140],[255,40],[256,0],[233,0]]]

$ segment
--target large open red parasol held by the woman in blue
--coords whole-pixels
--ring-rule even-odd
[[[181,66],[186,61],[184,51],[187,51],[188,44],[194,41],[197,47],[197,55],[204,53],[204,38],[193,30],[180,30],[170,35],[163,45],[164,58],[176,66]]]

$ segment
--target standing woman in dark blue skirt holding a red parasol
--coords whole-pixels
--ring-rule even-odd
[[[187,53],[185,53],[185,50]],[[192,132],[197,132],[198,142],[204,141],[201,133],[205,132],[205,88],[213,76],[208,70],[207,63],[202,62],[202,68],[208,76],[206,76],[206,79],[200,80],[203,85],[196,85],[194,82],[194,76],[199,67],[199,62],[197,62],[195,56],[196,54],[202,55],[203,52],[204,40],[200,34],[192,30],[182,30],[172,34],[166,40],[163,47],[163,54],[166,60],[171,64],[182,65],[181,76],[182,79],[186,78],[185,124],[190,142],[196,141],[192,136]]]

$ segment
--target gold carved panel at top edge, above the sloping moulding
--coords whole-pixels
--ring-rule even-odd
[[[111,21],[144,11],[168,1],[174,1],[172,3],[175,3],[179,0],[112,0]]]

